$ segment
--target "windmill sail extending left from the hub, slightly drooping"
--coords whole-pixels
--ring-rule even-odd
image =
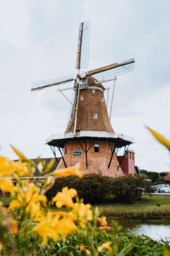
[[[32,82],[31,91],[38,91],[47,87],[66,84],[68,82],[74,81],[75,79],[73,77],[74,77],[74,74],[70,74],[60,78],[34,81]]]

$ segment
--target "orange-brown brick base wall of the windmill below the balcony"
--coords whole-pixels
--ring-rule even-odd
[[[90,147],[93,141],[87,142],[87,149]],[[85,142],[80,142],[85,149]],[[100,147],[99,153],[94,152],[94,144],[98,144]],[[111,146],[114,147],[114,144],[111,143]],[[123,175],[123,171],[121,167],[117,170],[119,166],[119,161],[117,160],[116,155],[114,154],[112,158],[112,163],[110,164],[110,168],[108,168],[109,160],[110,160],[110,147],[108,142],[106,141],[95,141],[90,150],[87,153],[87,164],[88,168],[86,168],[86,155],[79,142],[68,142],[65,144],[66,154],[64,150],[64,160],[67,167],[75,165],[75,162],[79,162],[81,164],[80,170],[83,171],[84,174],[88,173],[97,173],[105,176],[116,177]],[[73,156],[73,150],[82,150],[81,156]],[[60,163],[57,166],[57,169],[64,168],[63,160],[61,159]]]

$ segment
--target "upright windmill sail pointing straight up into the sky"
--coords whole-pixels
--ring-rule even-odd
[[[88,67],[88,58],[90,51],[90,21],[80,23],[79,35],[78,35],[78,46],[77,46],[77,59],[76,68]]]

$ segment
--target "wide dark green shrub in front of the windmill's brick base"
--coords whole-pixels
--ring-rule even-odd
[[[76,176],[58,178],[46,196],[50,200],[64,186],[77,190],[85,203],[106,203],[110,200],[134,203],[141,200],[142,189],[147,186],[142,177],[125,175],[117,178],[87,174],[82,179]]]

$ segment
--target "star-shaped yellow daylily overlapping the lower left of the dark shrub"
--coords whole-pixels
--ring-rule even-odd
[[[58,192],[55,197],[53,197],[52,204],[56,202],[56,206],[61,208],[63,205],[72,207],[72,198],[77,196],[77,191],[75,189],[68,189],[67,187],[62,189],[62,192]]]

